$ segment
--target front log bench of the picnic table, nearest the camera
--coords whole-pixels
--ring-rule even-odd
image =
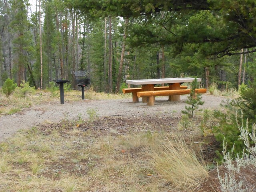
[[[196,89],[196,93],[206,93],[206,89]],[[190,94],[190,89],[178,90],[154,90],[154,91],[138,91],[138,97],[148,97],[148,106],[154,106],[155,96],[171,96],[171,95],[185,95]]]

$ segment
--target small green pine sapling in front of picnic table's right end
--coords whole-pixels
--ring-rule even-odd
[[[197,87],[197,79],[191,83],[191,90],[190,90],[190,96],[188,96],[188,100],[186,100],[186,104],[189,106],[185,106],[185,110],[182,110],[183,114],[188,115],[190,118],[194,116],[194,112],[198,110],[199,105],[203,105],[204,102],[202,101],[202,96],[200,94],[196,94],[195,90]]]

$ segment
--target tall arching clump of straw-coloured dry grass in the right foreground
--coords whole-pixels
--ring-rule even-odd
[[[166,138],[157,143],[149,155],[164,184],[168,183],[176,190],[193,191],[208,177],[206,166],[183,138],[174,136],[173,140]]]

